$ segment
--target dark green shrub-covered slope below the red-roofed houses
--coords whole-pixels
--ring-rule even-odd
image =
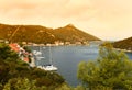
[[[58,74],[30,67],[8,45],[0,44],[0,90],[53,90],[63,83]]]

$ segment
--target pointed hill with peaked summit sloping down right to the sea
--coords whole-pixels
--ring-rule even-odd
[[[88,33],[85,33],[72,24],[68,24],[64,27],[58,27],[54,31],[54,35],[61,37],[64,41],[68,41],[72,43],[75,42],[85,42],[85,41],[98,41],[99,38],[92,36]]]

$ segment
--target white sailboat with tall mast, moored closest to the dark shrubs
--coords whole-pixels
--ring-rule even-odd
[[[43,66],[37,66],[37,68],[47,70],[47,71],[56,71],[58,68],[53,65],[53,58],[52,58],[52,52],[51,52],[51,46],[50,46],[50,64],[48,65],[43,65]]]

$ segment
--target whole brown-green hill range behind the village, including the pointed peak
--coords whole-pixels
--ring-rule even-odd
[[[0,24],[0,40],[11,42],[54,43],[62,42],[85,42],[99,41],[98,37],[85,33],[74,25],[51,29],[41,25],[7,25]]]

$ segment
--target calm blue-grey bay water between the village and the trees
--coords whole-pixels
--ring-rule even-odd
[[[53,58],[53,65],[58,68],[61,74],[70,86],[79,85],[77,79],[78,64],[82,60],[95,60],[98,57],[98,45],[90,46],[53,46],[52,57],[50,57],[50,47],[31,47],[33,50],[41,50],[44,59],[37,60],[36,65],[45,65]],[[128,53],[132,59],[132,53]]]

